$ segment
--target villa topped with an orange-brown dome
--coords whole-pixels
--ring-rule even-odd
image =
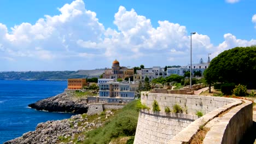
[[[103,74],[103,79],[125,79],[126,77],[132,77],[134,74],[133,69],[126,67],[120,67],[117,59],[112,63],[112,69],[106,69]]]

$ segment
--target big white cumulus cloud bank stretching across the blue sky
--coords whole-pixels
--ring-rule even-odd
[[[104,68],[115,58],[124,62],[124,66],[189,63],[190,33],[179,23],[164,20],[153,27],[146,16],[120,6],[113,21],[117,29],[105,29],[96,13],[87,10],[82,0],[65,4],[59,11],[59,15],[45,15],[34,25],[21,23],[11,31],[0,23],[1,59],[17,59],[16,62],[20,58],[38,59],[57,65],[61,61],[64,67],[74,65],[73,69],[90,69],[95,65]],[[256,15],[252,21],[256,23]],[[192,41],[194,63],[207,53],[217,56],[235,46],[256,44],[253,39],[237,39],[230,33],[224,34],[224,41],[218,46],[211,43],[208,35],[200,33],[194,34]]]

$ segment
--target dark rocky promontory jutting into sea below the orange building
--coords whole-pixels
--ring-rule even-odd
[[[67,92],[39,100],[28,106],[36,110],[45,110],[49,112],[72,112],[80,114],[88,112],[89,108],[86,103],[81,102],[80,98],[77,98],[74,94]]]

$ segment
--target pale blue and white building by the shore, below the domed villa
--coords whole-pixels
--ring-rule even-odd
[[[137,83],[109,81],[99,84],[100,103],[128,103],[135,98]]]

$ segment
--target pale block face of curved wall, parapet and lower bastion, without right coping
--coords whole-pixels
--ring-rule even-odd
[[[197,111],[201,111],[205,115],[219,107],[235,102],[234,99],[221,97],[142,92],[141,103],[146,104],[151,110],[154,100],[158,101],[162,110],[159,112],[161,115],[150,110],[139,113],[134,143],[170,143],[168,140],[171,140],[173,136],[176,136],[195,121]],[[174,104],[182,106],[184,113],[172,113],[171,116],[164,115],[165,107],[168,106],[172,110]],[[188,115],[185,114],[186,112]],[[213,115],[216,116],[214,113]],[[198,128],[199,125],[196,125],[195,133]],[[189,137],[188,139],[190,140]]]

